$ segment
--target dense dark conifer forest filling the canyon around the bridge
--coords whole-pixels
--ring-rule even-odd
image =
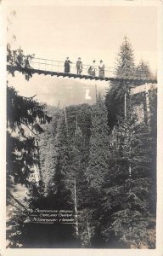
[[[32,59],[10,45],[7,53],[12,76],[9,67]],[[123,69],[151,73],[127,38],[116,75]],[[7,247],[155,248],[157,90],[147,108],[145,92],[130,93],[138,82],[108,83],[93,105],[65,108],[7,84]]]

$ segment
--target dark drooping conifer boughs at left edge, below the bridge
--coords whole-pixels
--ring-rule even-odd
[[[50,122],[45,106],[19,96],[13,87],[7,86],[7,180],[14,177],[16,183],[28,185],[31,166],[39,165],[37,139],[43,129],[40,124]],[[40,121],[40,124],[38,121]],[[31,137],[30,132],[33,135]]]

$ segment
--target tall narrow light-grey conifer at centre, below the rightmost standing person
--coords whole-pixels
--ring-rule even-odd
[[[108,172],[109,129],[107,110],[102,97],[92,109],[92,129],[87,179],[94,189],[100,189]]]

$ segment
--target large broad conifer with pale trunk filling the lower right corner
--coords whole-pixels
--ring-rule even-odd
[[[110,135],[110,160],[98,218],[108,247],[155,247],[155,139],[127,109]]]

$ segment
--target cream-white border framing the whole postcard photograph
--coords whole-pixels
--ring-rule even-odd
[[[5,116],[6,116],[6,32],[4,27],[6,27],[6,7],[8,5],[66,5],[66,6],[156,6],[158,8],[158,154],[157,154],[157,228],[156,228],[156,249],[6,249],[5,241],[5,154],[6,154],[6,142],[5,142]],[[148,255],[148,256],[162,256],[163,255],[163,1],[161,0],[3,0],[0,5],[1,20],[0,25],[2,26],[0,36],[3,36],[3,40],[0,43],[0,60],[3,61],[3,66],[0,65],[1,73],[1,91],[0,91],[0,181],[2,193],[0,194],[1,201],[1,224],[0,224],[0,254],[3,256],[53,256],[53,255],[118,255],[118,256],[128,256],[128,255]],[[3,171],[3,172],[2,172]]]

